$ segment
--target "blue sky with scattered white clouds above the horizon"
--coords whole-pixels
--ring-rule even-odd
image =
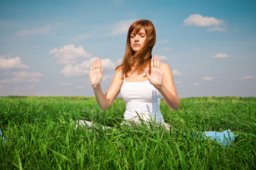
[[[129,25],[156,28],[152,55],[174,74],[180,98],[256,96],[256,1],[0,1],[0,96],[104,93],[124,55]]]

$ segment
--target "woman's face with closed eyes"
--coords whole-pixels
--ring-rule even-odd
[[[131,42],[132,50],[134,52],[139,51],[143,46],[145,40],[146,40],[146,33],[144,28],[139,30],[139,33],[137,34],[131,33],[130,42]]]

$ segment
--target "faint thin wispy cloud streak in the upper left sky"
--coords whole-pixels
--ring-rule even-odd
[[[26,35],[35,35],[35,34],[41,34],[41,33],[48,33],[50,30],[53,30],[54,28],[58,28],[60,24],[56,24],[55,26],[51,25],[46,25],[41,28],[36,28],[33,30],[20,30],[18,33],[15,33],[15,35],[21,35],[21,36],[26,36]]]

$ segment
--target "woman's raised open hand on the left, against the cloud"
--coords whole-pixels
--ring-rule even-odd
[[[97,58],[94,64],[91,65],[90,74],[89,74],[90,83],[92,84],[93,88],[99,85],[100,82],[102,81],[103,70],[104,68],[101,69],[101,60]]]

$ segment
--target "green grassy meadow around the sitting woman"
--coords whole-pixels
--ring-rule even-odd
[[[256,169],[256,97],[180,102],[172,111],[161,101],[168,131],[121,125],[122,98],[101,111],[93,97],[2,97],[0,169]],[[229,146],[196,135],[227,129],[238,135]]]

